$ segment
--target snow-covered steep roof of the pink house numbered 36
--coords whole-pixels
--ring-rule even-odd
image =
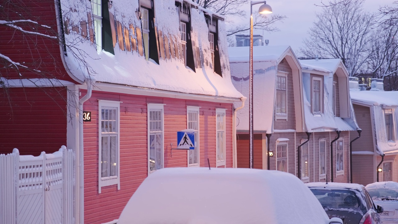
[[[87,6],[86,6],[87,4]],[[179,13],[176,10],[175,1],[155,1],[155,14],[158,33],[162,32],[164,42],[174,49],[180,46],[181,33],[179,31]],[[65,63],[70,72],[80,81],[88,78],[97,82],[153,88],[172,92],[189,94],[201,94],[209,96],[221,96],[228,98],[241,98],[231,82],[229,61],[226,43],[226,30],[224,21],[219,20],[219,52],[222,67],[222,76],[213,71],[211,65],[211,51],[209,42],[209,29],[202,10],[191,8],[192,38],[195,46],[200,51],[201,63],[196,72],[185,66],[181,57],[161,58],[160,65],[149,60],[146,61],[137,51],[121,50],[127,49],[125,43],[131,44],[136,41],[137,29],[141,29],[141,22],[136,11],[139,9],[138,0],[118,0],[111,2],[110,16],[117,24],[117,43],[114,40],[115,55],[102,51],[97,53],[95,45],[90,38],[82,37],[88,30],[92,31],[91,4],[79,0],[61,0],[62,19],[68,29],[65,31],[66,43],[73,47],[67,49]],[[73,10],[72,10],[73,9]],[[209,13],[209,11],[206,11]],[[113,18],[112,18],[113,19]],[[89,21],[81,26],[81,21]],[[90,30],[91,29],[91,30]],[[120,30],[120,32],[119,32]],[[123,35],[123,36],[120,36]],[[160,35],[160,34],[159,34]],[[124,38],[123,38],[124,37]],[[115,38],[115,37],[113,37]],[[124,42],[121,41],[124,39]],[[131,43],[130,40],[131,39]],[[135,44],[136,42],[134,42]],[[138,44],[139,42],[137,42]],[[173,51],[171,49],[171,51]],[[166,51],[168,47],[166,47]],[[175,52],[182,52],[177,49]],[[197,52],[194,51],[196,54]],[[174,52],[170,52],[174,55]],[[77,55],[77,56],[76,56]],[[84,58],[85,63],[78,59]],[[167,56],[166,56],[167,57]],[[198,56],[199,57],[199,56]],[[90,74],[89,74],[90,73]]]

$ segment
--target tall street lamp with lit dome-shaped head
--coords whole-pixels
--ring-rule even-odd
[[[250,168],[254,168],[253,159],[253,145],[254,145],[254,130],[253,130],[253,6],[256,4],[263,4],[258,9],[260,14],[272,13],[271,6],[267,5],[265,1],[250,1],[250,61],[249,61],[249,156]]]

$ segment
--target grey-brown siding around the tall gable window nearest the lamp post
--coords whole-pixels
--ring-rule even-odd
[[[287,63],[286,59],[283,59],[278,64],[278,71],[286,72],[287,75],[287,120],[278,119],[274,121],[274,129],[296,129],[296,114],[295,114],[295,98],[293,92],[293,73],[291,66]],[[274,107],[275,108],[275,107]]]

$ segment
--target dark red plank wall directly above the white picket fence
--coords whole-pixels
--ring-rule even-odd
[[[18,148],[20,155],[38,156],[66,145],[66,98],[63,87],[1,90],[0,154]]]

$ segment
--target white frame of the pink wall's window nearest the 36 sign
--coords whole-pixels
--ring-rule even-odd
[[[98,100],[98,193],[101,193],[101,187],[117,185],[117,190],[120,190],[120,103],[118,101],[110,100]],[[101,177],[102,171],[102,109],[103,108],[115,108],[117,110],[117,133],[112,133],[117,135],[117,177]],[[108,134],[106,134],[108,135]]]

